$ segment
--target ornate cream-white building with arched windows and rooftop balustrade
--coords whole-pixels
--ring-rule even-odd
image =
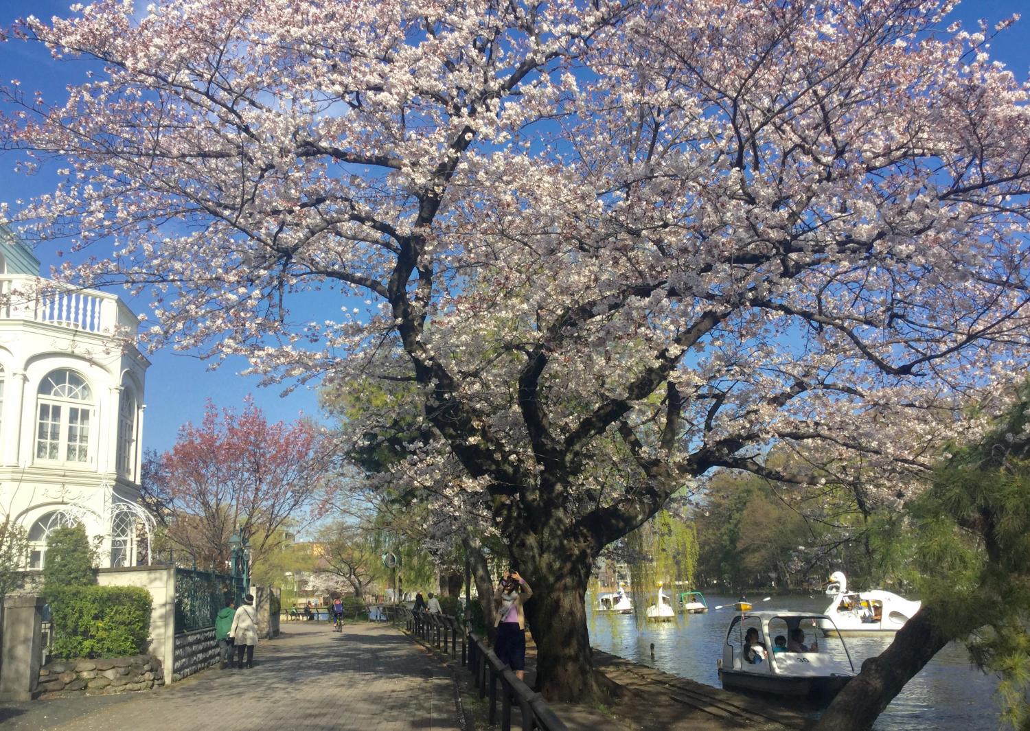
[[[149,558],[137,504],[149,361],[116,338],[139,320],[115,295],[39,277],[39,260],[0,227],[0,520],[29,531],[28,568],[46,537],[80,522],[100,566]]]

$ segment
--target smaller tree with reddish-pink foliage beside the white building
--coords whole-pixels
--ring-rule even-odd
[[[287,538],[283,528],[320,515],[334,459],[310,421],[270,423],[249,398],[241,412],[208,402],[204,420],[181,426],[162,456],[168,541],[220,568],[238,532],[258,564]]]

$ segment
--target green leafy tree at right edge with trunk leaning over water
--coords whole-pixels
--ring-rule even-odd
[[[991,433],[954,450],[895,524],[923,606],[823,715],[817,731],[867,729],[952,640],[1000,678],[1002,720],[1030,729],[1030,383]]]

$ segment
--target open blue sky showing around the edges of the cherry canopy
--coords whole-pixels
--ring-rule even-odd
[[[141,0],[145,4],[147,0]],[[35,14],[39,18],[68,14],[69,0],[0,0],[0,27],[8,27],[16,18]],[[986,19],[992,26],[1014,12],[1023,19],[992,43],[993,58],[1004,62],[1018,78],[1026,79],[1030,70],[1030,0],[967,0],[954,13],[969,30],[975,29],[977,19]],[[84,66],[59,63],[39,46],[22,42],[0,43],[0,80],[7,83],[19,79],[26,92],[40,90],[52,100],[62,98],[65,85],[81,79]],[[26,178],[12,172],[15,156],[0,152],[0,201],[16,209],[15,200],[46,192],[53,180],[45,173]],[[44,269],[57,262],[53,249],[40,248],[36,255]],[[121,293],[121,292],[119,292]],[[137,311],[145,303],[131,303]],[[338,307],[331,303],[329,307]],[[166,450],[175,441],[176,430],[186,421],[199,421],[204,403],[213,398],[219,406],[239,407],[243,398],[252,393],[258,404],[272,419],[296,419],[299,413],[317,415],[317,396],[314,387],[301,387],[285,397],[280,388],[258,387],[255,377],[242,377],[239,372],[246,367],[242,359],[230,360],[217,371],[208,371],[207,364],[197,357],[164,350],[148,353],[153,363],[147,374],[146,420],[143,446],[145,449]]]

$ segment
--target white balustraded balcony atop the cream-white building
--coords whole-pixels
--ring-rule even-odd
[[[0,274],[0,325],[6,320],[101,337],[135,337],[139,327],[139,318],[114,294],[24,274]]]

